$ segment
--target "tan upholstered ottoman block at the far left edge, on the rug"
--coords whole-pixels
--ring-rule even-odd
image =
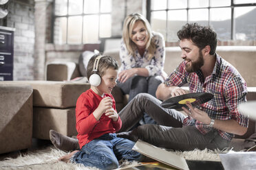
[[[0,154],[32,145],[32,86],[0,82]]]

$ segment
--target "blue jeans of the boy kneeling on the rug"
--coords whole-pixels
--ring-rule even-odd
[[[81,163],[85,167],[99,169],[116,169],[118,160],[137,160],[144,158],[137,151],[132,150],[134,142],[126,138],[118,138],[116,134],[104,134],[84,145],[72,157],[72,162]]]

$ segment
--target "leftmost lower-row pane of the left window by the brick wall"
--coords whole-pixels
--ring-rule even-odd
[[[59,17],[54,22],[54,44],[65,44],[67,40],[67,18]]]

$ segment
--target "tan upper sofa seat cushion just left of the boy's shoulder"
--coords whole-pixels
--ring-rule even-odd
[[[89,83],[58,81],[14,81],[12,84],[30,84],[33,88],[33,106],[70,108],[78,97],[90,88]]]

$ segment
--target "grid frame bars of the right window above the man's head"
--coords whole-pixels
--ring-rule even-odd
[[[186,0],[187,4],[189,4],[190,0]],[[208,0],[209,4],[210,1],[212,0]],[[214,6],[211,7],[210,5],[208,7],[203,7],[203,8],[178,8],[178,9],[168,9],[168,0],[167,0],[167,8],[163,9],[163,10],[151,10],[151,0],[147,0],[147,20],[149,21],[149,23],[151,23],[151,12],[160,12],[160,11],[165,11],[167,14],[167,21],[168,21],[168,12],[171,10],[186,10],[186,23],[189,23],[189,10],[193,9],[193,10],[200,10],[200,9],[207,9],[209,12],[208,15],[208,25],[210,25],[210,10],[214,9],[214,8],[231,8],[231,38],[230,40],[234,40],[234,32],[235,32],[235,22],[234,22],[234,8],[237,7],[250,7],[250,6],[256,6],[256,2],[255,3],[240,3],[240,4],[235,4],[234,3],[235,0],[231,0],[231,5],[226,5],[226,6]],[[166,23],[167,23],[166,21]],[[168,25],[166,24],[166,29],[168,29]],[[168,37],[168,32],[166,32],[165,37]],[[166,40],[167,41],[167,40]]]

